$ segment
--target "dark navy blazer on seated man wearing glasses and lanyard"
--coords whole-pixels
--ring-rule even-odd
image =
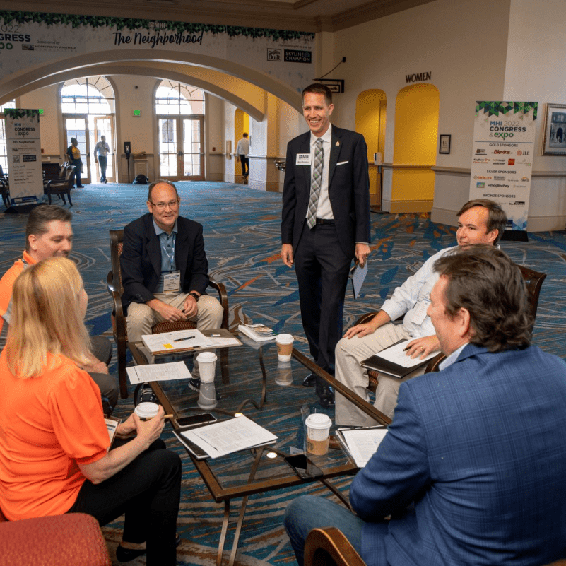
[[[175,264],[181,272],[181,290],[198,291],[208,287],[208,260],[204,252],[202,225],[189,218],[177,218]],[[120,255],[122,305],[148,302],[159,283],[161,247],[153,228],[153,216],[144,214],[124,228],[124,247]]]

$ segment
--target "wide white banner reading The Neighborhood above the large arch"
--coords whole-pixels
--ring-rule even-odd
[[[74,67],[92,60],[83,59],[88,55],[127,60],[132,53],[188,63],[206,57],[211,67],[216,60],[228,61],[299,92],[308,84],[306,77],[314,76],[316,60],[310,32],[0,10],[0,94],[12,73],[22,69],[47,64],[62,69],[62,61],[75,58]]]

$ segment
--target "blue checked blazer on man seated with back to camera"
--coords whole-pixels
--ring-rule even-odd
[[[531,346],[468,344],[399,389],[393,423],[354,478],[377,565],[538,566],[566,555],[566,364]],[[414,502],[411,510],[407,506]],[[393,514],[387,527],[382,517]],[[387,533],[387,534],[386,534]]]

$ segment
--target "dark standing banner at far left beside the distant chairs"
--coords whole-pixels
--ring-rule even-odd
[[[6,108],[4,116],[10,204],[37,204],[43,199],[40,111]]]

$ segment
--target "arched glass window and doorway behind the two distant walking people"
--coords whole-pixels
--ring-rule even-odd
[[[94,149],[101,136],[110,146],[107,155],[106,178],[114,181],[114,113],[116,104],[114,88],[104,76],[88,76],[65,81],[61,88],[61,113],[65,125],[65,150],[71,145],[71,138],[78,141],[83,165],[86,165],[83,182],[100,177],[99,164],[95,163]],[[88,156],[88,157],[87,157]]]

